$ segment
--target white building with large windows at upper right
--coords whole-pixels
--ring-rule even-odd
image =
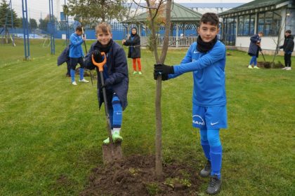
[[[284,43],[284,31],[289,29],[295,34],[294,0],[256,0],[218,15],[223,18],[223,42],[238,50],[247,51],[250,37],[263,31],[261,48],[272,54],[278,41],[279,45]]]

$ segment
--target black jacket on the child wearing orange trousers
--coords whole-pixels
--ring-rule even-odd
[[[129,45],[129,58],[140,58],[140,36],[138,34],[131,35],[124,45]]]

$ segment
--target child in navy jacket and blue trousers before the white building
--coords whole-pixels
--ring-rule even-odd
[[[257,58],[259,51],[261,51],[261,37],[263,36],[263,32],[260,31],[258,34],[254,34],[250,38],[250,46],[248,50],[248,55],[251,56],[250,63],[248,68],[249,69],[260,69],[257,66]],[[252,64],[254,64],[254,67],[252,67]]]

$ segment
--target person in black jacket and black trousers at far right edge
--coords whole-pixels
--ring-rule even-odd
[[[284,50],[284,70],[291,70],[291,54],[294,50],[294,36],[291,35],[291,30],[284,33],[284,45],[279,47]]]

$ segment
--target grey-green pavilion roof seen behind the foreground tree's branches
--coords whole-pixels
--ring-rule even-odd
[[[173,3],[171,5],[171,22],[190,22],[190,23],[197,23],[201,17],[202,14],[195,12],[194,10],[191,10],[190,8],[185,8],[185,6],[181,6],[178,3]],[[146,22],[147,18],[149,17],[149,13],[141,13],[139,15],[136,15],[133,18],[129,18],[129,20],[125,20],[125,23],[138,23],[138,22]]]

